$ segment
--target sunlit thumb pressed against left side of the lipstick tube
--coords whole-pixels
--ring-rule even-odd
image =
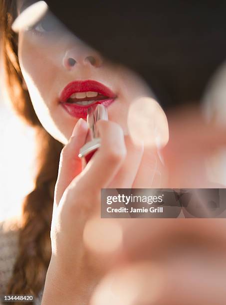
[[[78,153],[80,148],[85,144],[87,131],[88,126],[86,122],[83,119],[79,119],[68,144],[61,151],[54,196],[54,201],[57,205],[67,186],[82,170]]]

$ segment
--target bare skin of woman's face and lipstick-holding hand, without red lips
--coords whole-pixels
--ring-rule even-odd
[[[18,12],[21,4],[19,1]],[[144,152],[142,146],[133,144],[126,122],[133,101],[152,93],[135,73],[108,62],[61,25],[56,32],[21,30],[18,34],[20,68],[34,110],[46,131],[65,145],[55,186],[52,256],[42,305],[64,304],[65,298],[67,304],[87,304],[111,259],[87,249],[84,227],[88,219],[99,215],[101,188],[136,187],[147,167],[145,158],[154,156],[156,163],[155,150]],[[87,61],[88,56],[93,56],[98,65]],[[73,68],[66,64],[68,57],[77,61]],[[98,122],[102,145],[82,170],[77,155],[84,145],[87,125],[61,107],[59,96],[69,82],[85,79],[103,83],[117,95],[117,100],[108,108],[109,121]],[[157,104],[154,100],[150,103]],[[155,114],[164,114],[161,107],[156,108]],[[153,180],[153,172],[146,179]],[[74,222],[75,218],[78,221]]]

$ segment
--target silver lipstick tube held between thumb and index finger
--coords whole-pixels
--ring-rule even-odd
[[[79,158],[82,159],[83,168],[101,145],[101,139],[99,138],[96,127],[96,122],[99,120],[108,120],[107,108],[102,104],[96,104],[89,107],[87,110],[87,124],[89,130],[85,141],[86,144],[81,147],[78,154]]]

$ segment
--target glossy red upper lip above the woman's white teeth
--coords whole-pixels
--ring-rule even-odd
[[[69,97],[77,92],[87,92],[87,91],[94,91],[98,92],[106,97],[115,98],[116,95],[114,92],[111,91],[105,85],[94,81],[94,80],[79,80],[79,81],[72,81],[62,90],[60,94],[60,101],[67,102]]]

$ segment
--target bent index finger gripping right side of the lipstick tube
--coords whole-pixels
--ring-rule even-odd
[[[94,153],[84,170],[68,187],[58,205],[65,230],[73,230],[76,217],[76,236],[83,232],[90,215],[100,208],[100,190],[108,185],[119,170],[126,156],[124,135],[121,127],[113,122],[97,122],[101,147]],[[79,228],[79,229],[78,229]]]

